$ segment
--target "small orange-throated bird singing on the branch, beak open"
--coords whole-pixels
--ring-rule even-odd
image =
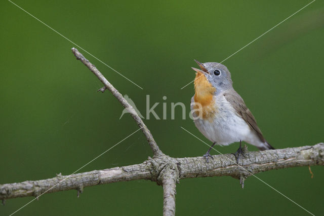
[[[190,109],[197,129],[210,141],[211,148],[204,155],[212,157],[210,151],[215,145],[228,146],[239,142],[234,154],[236,163],[244,154],[241,142],[245,141],[259,150],[274,149],[263,137],[257,122],[244,100],[234,90],[231,74],[227,67],[217,62],[200,63],[196,71],[194,95]]]

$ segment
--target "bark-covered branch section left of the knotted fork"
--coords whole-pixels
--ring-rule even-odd
[[[136,179],[150,179],[151,174],[147,166],[146,163],[142,163],[72,175],[57,174],[54,178],[44,180],[0,185],[0,199],[37,197],[43,193],[67,190],[77,190],[77,194],[79,194],[88,186],[126,182]]]

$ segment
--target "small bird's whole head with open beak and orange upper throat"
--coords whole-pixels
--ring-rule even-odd
[[[200,63],[195,60],[200,69],[191,67],[196,71],[194,86],[196,92],[222,92],[232,88],[231,74],[227,67],[217,62]]]

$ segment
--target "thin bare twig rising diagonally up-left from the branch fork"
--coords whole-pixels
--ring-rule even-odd
[[[117,89],[115,89],[115,87],[113,87],[108,82],[108,80],[100,73],[100,71],[96,68],[96,66],[93,65],[88,59],[86,59],[76,48],[73,47],[72,52],[73,52],[74,56],[76,57],[76,59],[82,61],[82,63],[84,63],[92,71],[92,73],[102,82],[104,87],[99,89],[98,91],[104,92],[105,89],[108,89],[112,93],[112,95],[115,96],[115,98],[117,98],[117,100],[121,103],[121,105],[123,105],[125,107],[125,109],[127,109],[127,111],[131,114],[131,116],[133,117],[133,119],[135,120],[137,125],[141,128],[142,132],[144,133],[144,135],[147,139],[147,142],[149,143],[149,145],[153,151],[154,157],[162,155],[163,153],[159,150],[158,146],[156,145],[156,142],[155,142],[151,132],[146,127],[146,125],[142,121],[141,117],[136,113],[133,106],[131,106],[127,102],[127,100],[123,97],[123,95],[121,95],[119,93],[119,91]]]

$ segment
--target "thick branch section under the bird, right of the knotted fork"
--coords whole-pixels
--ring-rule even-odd
[[[236,164],[232,154],[214,155],[210,163],[203,157],[178,158],[180,178],[232,176],[241,179],[272,169],[324,165],[324,143],[287,149],[247,152]]]

